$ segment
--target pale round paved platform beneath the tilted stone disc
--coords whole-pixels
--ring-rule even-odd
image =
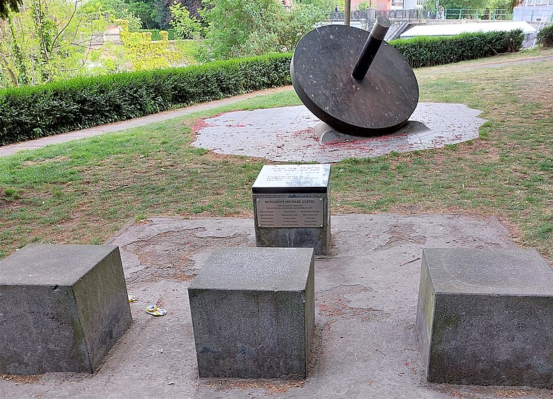
[[[478,118],[480,113],[463,104],[421,102],[409,118],[410,123],[393,134],[364,140],[351,136],[349,142],[336,138],[319,144],[314,131],[319,119],[303,105],[233,111],[205,119],[205,126],[196,132],[192,145],[218,154],[331,163],[474,140],[485,122]]]

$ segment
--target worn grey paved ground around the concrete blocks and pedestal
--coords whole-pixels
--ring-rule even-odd
[[[253,220],[152,217],[109,240],[120,245],[138,301],[133,325],[100,371],[0,380],[0,399],[553,398],[424,382],[414,327],[422,248],[513,247],[496,219],[351,214],[332,216],[332,234],[332,256],[315,261],[315,346],[305,381],[198,380],[187,286],[214,248],[254,245]],[[156,302],[169,314],[147,315]]]

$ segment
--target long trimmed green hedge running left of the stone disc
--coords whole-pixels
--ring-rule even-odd
[[[0,145],[290,83],[290,54],[0,91]]]

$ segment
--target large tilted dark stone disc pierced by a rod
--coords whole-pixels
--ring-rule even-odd
[[[419,99],[413,69],[386,41],[364,80],[351,76],[368,35],[351,26],[321,26],[299,41],[290,66],[303,104],[330,127],[356,136],[400,129]]]

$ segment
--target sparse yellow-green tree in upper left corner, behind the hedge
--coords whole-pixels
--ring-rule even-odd
[[[122,2],[111,3],[111,10],[106,4],[25,0],[20,12],[0,19],[0,87],[89,74],[85,66],[93,53],[91,38],[103,33],[108,24],[128,24],[117,19],[124,7],[117,11],[115,6]],[[139,27],[140,21],[134,20]]]

